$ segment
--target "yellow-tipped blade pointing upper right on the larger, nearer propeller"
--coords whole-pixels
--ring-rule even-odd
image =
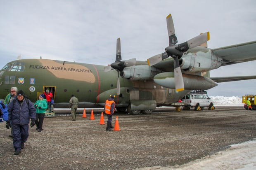
[[[197,47],[201,44],[204,44],[210,40],[210,33],[206,32],[200,35],[197,35],[196,37],[188,40],[187,42],[183,42],[181,44],[178,44],[178,49],[182,52],[186,52],[188,49],[192,49],[194,47]]]

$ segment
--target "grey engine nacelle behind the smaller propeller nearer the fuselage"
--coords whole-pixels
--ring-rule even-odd
[[[156,74],[162,72],[155,67],[148,65],[133,65],[126,67],[120,72],[120,76],[131,80],[149,80],[153,79]]]

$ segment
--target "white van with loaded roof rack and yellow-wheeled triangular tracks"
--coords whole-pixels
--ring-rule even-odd
[[[185,103],[183,110],[189,110],[194,107],[194,110],[201,110],[208,107],[209,110],[214,110],[213,100],[209,98],[206,91],[193,91],[185,95],[182,99]]]

